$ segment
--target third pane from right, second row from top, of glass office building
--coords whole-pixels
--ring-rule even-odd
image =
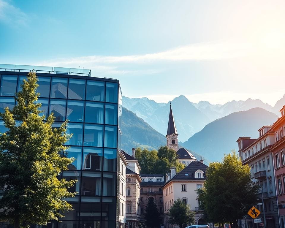
[[[84,111],[83,101],[68,100],[66,119],[68,119],[71,122],[83,122],[83,111]]]

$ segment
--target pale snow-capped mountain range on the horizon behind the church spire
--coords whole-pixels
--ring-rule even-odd
[[[285,105],[285,95],[273,107],[259,99],[250,98],[246,101],[233,100],[224,105],[212,105],[207,101],[194,103],[183,95],[173,99],[171,105],[179,134],[178,140],[185,142],[210,122],[234,112],[260,107],[279,116],[279,110]],[[166,134],[170,102],[157,103],[146,97],[128,98],[123,96],[123,106],[142,118],[156,131]]]

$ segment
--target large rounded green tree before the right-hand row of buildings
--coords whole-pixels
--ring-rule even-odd
[[[232,151],[222,162],[210,163],[204,188],[198,189],[198,200],[209,222],[230,222],[237,227],[252,205],[257,202],[258,186],[253,186],[250,167],[243,165]]]

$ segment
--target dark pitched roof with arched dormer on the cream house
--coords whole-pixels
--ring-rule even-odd
[[[176,174],[170,181],[194,181],[194,180],[206,180],[205,178],[205,172],[207,170],[208,166],[206,166],[205,164],[203,164],[202,162],[199,161],[193,161],[191,162],[189,165],[187,165],[183,170],[181,170],[181,172],[179,172],[178,174]],[[204,178],[195,178],[194,177],[194,173],[197,170],[202,170],[204,172]],[[185,175],[188,174],[188,175]]]

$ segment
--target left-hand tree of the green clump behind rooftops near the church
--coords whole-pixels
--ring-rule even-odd
[[[158,161],[157,151],[149,151],[147,148],[136,148],[136,159],[141,167],[141,174],[156,173],[156,163]]]

